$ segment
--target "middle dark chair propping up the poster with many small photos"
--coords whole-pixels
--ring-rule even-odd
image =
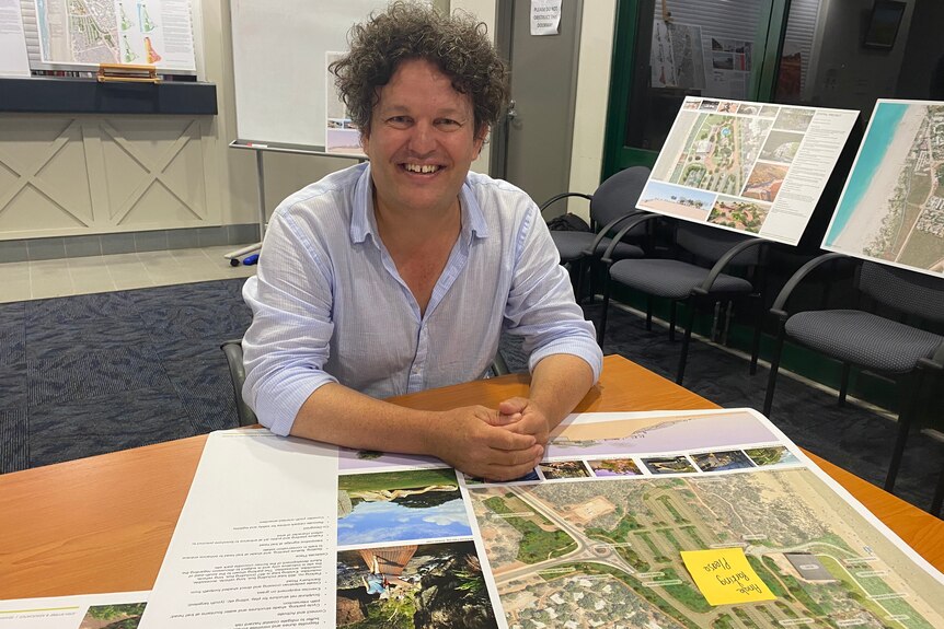
[[[669,249],[671,257],[624,260],[612,258],[610,249],[620,242],[624,232],[638,229],[642,222],[654,221],[669,221],[672,226],[674,244]],[[600,347],[603,346],[613,283],[646,295],[646,329],[652,329],[653,298],[669,300],[669,340],[675,340],[677,306],[684,304],[688,306],[688,322],[676,373],[676,383],[681,384],[698,310],[705,304],[722,302],[730,305],[749,301],[755,311],[750,373],[756,373],[763,325],[763,263],[767,244],[760,238],[655,214],[632,219],[613,236],[610,248],[603,253],[602,263],[608,272],[597,342]],[[733,269],[739,275],[725,272],[733,272]]]

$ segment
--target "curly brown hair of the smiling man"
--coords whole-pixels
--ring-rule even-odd
[[[350,118],[365,136],[370,117],[398,66],[425,59],[469,94],[475,136],[498,120],[508,97],[508,68],[486,36],[485,24],[457,11],[442,15],[428,4],[393,2],[383,13],[355,24],[348,33],[350,51],[329,66]]]

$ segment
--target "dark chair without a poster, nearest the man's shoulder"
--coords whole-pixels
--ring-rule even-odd
[[[592,195],[583,193],[563,193],[551,197],[541,205],[541,212],[555,202],[569,197],[580,197],[590,201],[590,230],[578,231],[552,231],[551,237],[561,254],[561,264],[571,269],[571,277],[576,279],[574,293],[579,302],[583,298],[584,276],[592,278],[592,263],[599,260],[600,256],[610,245],[607,237],[613,230],[629,217],[641,213],[636,209],[636,201],[643,193],[646,180],[649,178],[649,170],[645,166],[633,166],[612,175],[594,191]],[[641,236],[641,231],[634,231],[631,236]],[[638,246],[621,242],[612,252],[614,259],[642,257],[643,249]],[[590,295],[594,291],[590,289]]]

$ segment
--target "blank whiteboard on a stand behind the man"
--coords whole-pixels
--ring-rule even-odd
[[[325,53],[387,0],[232,0],[237,140],[323,150]]]

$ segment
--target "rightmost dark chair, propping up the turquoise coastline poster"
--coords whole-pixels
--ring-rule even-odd
[[[885,479],[885,489],[891,491],[918,411],[921,386],[929,376],[940,377],[944,373],[944,336],[932,331],[935,326],[940,329],[944,325],[944,280],[856,260],[854,287],[859,303],[841,310],[787,312],[790,298],[802,281],[824,265],[840,260],[851,258],[842,254],[826,254],[810,260],[794,273],[776,296],[770,311],[776,318],[776,348],[771,360],[763,412],[767,416],[771,413],[786,338],[842,363],[840,406],[845,403],[853,366],[896,378],[901,398],[898,435]]]

